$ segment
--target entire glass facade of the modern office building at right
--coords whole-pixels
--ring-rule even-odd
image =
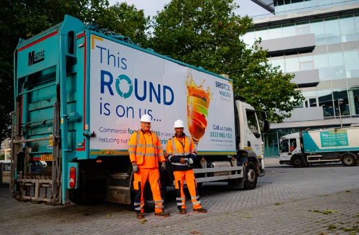
[[[288,15],[322,8],[359,3],[359,0],[277,0],[275,15]],[[357,10],[358,12],[358,10]],[[328,14],[329,15],[329,14]],[[286,23],[251,30],[245,36],[246,44],[262,40],[314,34],[316,48],[312,52],[283,53],[269,57],[273,66],[283,73],[302,73],[318,70],[318,86],[299,88],[304,100],[295,108],[322,107],[324,120],[335,118],[359,118],[359,14],[338,14],[338,17],[320,19],[320,15],[296,23]],[[293,39],[291,39],[293,40]],[[304,122],[302,122],[303,124]],[[304,124],[307,125],[307,124]],[[309,125],[309,123],[308,123]],[[333,128],[336,126],[306,126],[300,128],[273,129],[264,135],[264,157],[278,157],[279,138],[307,128]]]

